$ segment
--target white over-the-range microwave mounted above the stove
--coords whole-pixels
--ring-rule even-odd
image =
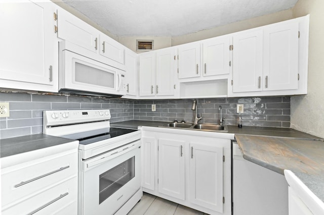
[[[123,71],[69,50],[60,61],[60,91],[87,91],[125,95]]]

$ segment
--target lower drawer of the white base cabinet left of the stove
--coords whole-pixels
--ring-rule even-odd
[[[77,214],[77,177],[33,193],[23,201],[3,206],[2,214]]]

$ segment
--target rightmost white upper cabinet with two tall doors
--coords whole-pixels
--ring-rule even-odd
[[[308,26],[305,16],[234,33],[228,95],[307,93]]]

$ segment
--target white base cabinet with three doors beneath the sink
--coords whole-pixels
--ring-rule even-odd
[[[231,214],[230,139],[142,127],[143,191],[208,214]]]

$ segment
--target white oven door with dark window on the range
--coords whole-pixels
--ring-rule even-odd
[[[141,141],[82,161],[79,214],[113,214],[140,188]]]

